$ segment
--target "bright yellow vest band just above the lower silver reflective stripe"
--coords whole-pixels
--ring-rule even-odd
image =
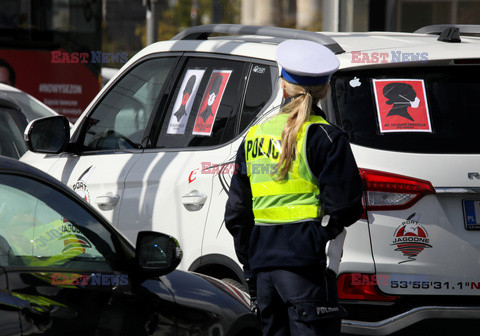
[[[252,196],[274,196],[286,194],[313,194],[318,192],[318,187],[305,180],[291,180],[287,182],[259,182],[253,183]]]

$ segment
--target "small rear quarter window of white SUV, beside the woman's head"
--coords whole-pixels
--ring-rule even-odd
[[[274,66],[252,63],[240,119],[242,133],[272,98],[278,70]]]

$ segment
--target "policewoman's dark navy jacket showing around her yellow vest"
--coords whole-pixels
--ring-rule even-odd
[[[314,106],[312,114],[324,117]],[[325,245],[362,214],[362,181],[345,133],[333,125],[314,124],[307,133],[307,161],[318,178],[319,202],[330,215],[327,228],[319,220],[284,225],[254,225],[252,191],[245,169],[245,143],[237,152],[230,184],[225,225],[245,277],[255,271],[324,264]]]

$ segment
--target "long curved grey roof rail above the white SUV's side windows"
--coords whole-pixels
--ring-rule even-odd
[[[308,40],[324,45],[335,54],[341,54],[345,52],[345,50],[343,50],[343,48],[334,39],[324,34],[306,30],[270,26],[251,26],[240,24],[201,25],[185,29],[184,31],[172,37],[172,40],[206,40],[211,34],[214,33],[229,35],[259,35],[291,40]]]

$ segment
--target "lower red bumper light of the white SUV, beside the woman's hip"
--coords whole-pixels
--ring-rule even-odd
[[[337,279],[338,298],[340,300],[385,302],[392,302],[400,298],[383,294],[377,284],[378,280],[375,274],[342,274]]]

